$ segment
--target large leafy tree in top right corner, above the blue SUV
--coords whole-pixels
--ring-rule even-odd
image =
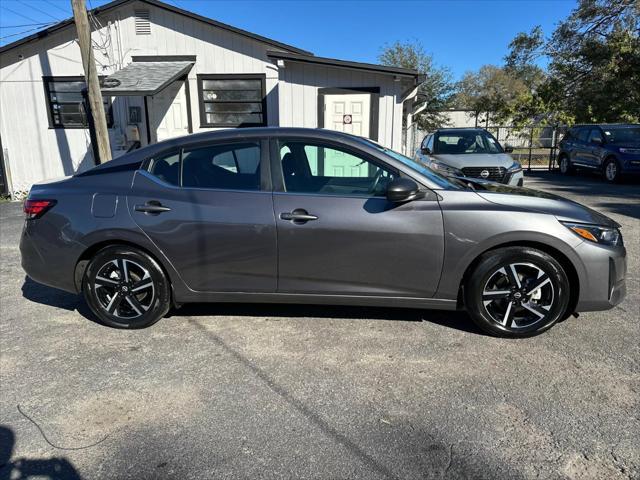
[[[545,38],[518,34],[505,58],[515,72],[545,59],[548,74],[517,112],[548,121],[640,121],[640,1],[579,0]]]

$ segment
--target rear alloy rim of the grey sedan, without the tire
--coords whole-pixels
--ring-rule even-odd
[[[105,263],[94,280],[95,297],[110,315],[135,319],[151,308],[155,287],[150,272],[139,263],[118,258]]]

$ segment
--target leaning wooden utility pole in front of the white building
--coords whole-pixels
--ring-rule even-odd
[[[91,48],[91,27],[87,16],[87,7],[84,0],[71,0],[73,8],[73,18],[76,22],[78,32],[78,43],[80,54],[82,55],[82,66],[84,67],[84,78],[87,82],[87,93],[89,97],[89,109],[93,118],[95,139],[98,150],[96,163],[104,163],[111,160],[111,147],[109,145],[109,131],[107,130],[107,117],[104,113],[102,103],[102,92],[100,92],[100,80],[96,70],[96,62],[93,58]]]

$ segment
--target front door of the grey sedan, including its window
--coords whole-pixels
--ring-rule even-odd
[[[273,140],[271,156],[278,292],[433,296],[444,253],[435,195],[390,203],[398,170],[324,140]]]

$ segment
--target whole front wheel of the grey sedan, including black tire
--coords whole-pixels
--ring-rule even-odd
[[[472,320],[499,337],[531,337],[548,330],[564,318],[569,298],[562,266],[529,247],[486,252],[465,284],[465,307]]]

